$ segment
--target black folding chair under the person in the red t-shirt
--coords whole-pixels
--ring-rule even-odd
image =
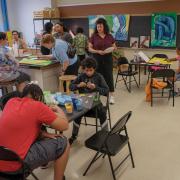
[[[0,146],[0,160],[9,162],[18,162],[21,168],[13,172],[0,171],[0,179],[5,180],[26,180],[26,177],[30,174],[34,179],[38,180],[32,170],[24,163],[24,161],[14,151]]]

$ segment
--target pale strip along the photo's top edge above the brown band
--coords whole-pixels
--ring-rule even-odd
[[[144,1],[157,1],[157,0],[56,0],[56,1],[58,6],[77,6],[77,5],[90,5],[90,4],[144,2]]]

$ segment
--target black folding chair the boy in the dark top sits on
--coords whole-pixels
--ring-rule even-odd
[[[106,104],[105,106],[103,106],[103,108],[105,109],[105,111],[107,111],[107,120],[109,121],[109,127],[110,129],[112,128],[112,125],[111,125],[111,113],[110,113],[110,108],[109,108],[109,93],[108,95],[106,96],[107,99],[106,99]],[[100,97],[99,97],[100,98]],[[98,118],[97,118],[97,112],[88,112],[86,113],[86,115],[84,116],[84,121],[85,123],[81,123],[83,125],[86,125],[86,126],[95,126],[96,127],[96,132],[98,131],[98,127],[101,127],[98,125]],[[87,123],[87,117],[88,118],[95,118],[95,124],[91,124],[91,123]]]

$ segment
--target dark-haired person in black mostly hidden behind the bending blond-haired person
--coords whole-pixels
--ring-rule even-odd
[[[44,25],[44,32],[43,32],[42,36],[44,36],[46,34],[52,34],[52,30],[53,30],[53,24],[51,22],[47,22]],[[43,55],[49,55],[49,54],[51,54],[51,49],[48,49],[48,48],[44,47],[43,45],[41,45],[41,53]]]

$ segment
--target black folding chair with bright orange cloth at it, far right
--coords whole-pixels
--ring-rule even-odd
[[[161,92],[157,92],[158,89],[153,86],[153,79],[159,79],[162,82],[166,82],[167,86],[161,89]],[[153,106],[153,98],[168,98],[172,96],[173,98],[173,106],[174,106],[174,79],[175,79],[175,71],[172,69],[159,69],[154,71],[151,75],[151,106]],[[156,89],[156,92],[154,90]],[[164,96],[164,91],[168,91],[168,96]],[[154,94],[161,94],[161,96],[153,96]]]

